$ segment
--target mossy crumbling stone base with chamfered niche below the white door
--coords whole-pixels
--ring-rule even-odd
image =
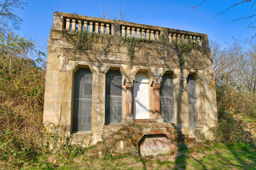
[[[102,137],[102,141],[97,142],[95,148],[89,149],[87,156],[101,157],[107,152],[112,155],[139,154],[142,157],[171,156],[178,155],[181,143],[187,147],[193,147],[196,143],[195,138],[182,135],[171,123],[165,123],[164,120],[129,120],[119,126],[119,130],[115,132],[107,127],[108,137]]]

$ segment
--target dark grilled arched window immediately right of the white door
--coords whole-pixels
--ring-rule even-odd
[[[171,74],[164,74],[160,88],[161,115],[166,122],[175,122],[174,82]]]

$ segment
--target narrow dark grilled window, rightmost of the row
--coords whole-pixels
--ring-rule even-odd
[[[198,127],[198,115],[196,110],[196,79],[192,75],[188,75],[187,84],[189,126],[192,128],[196,128]]]

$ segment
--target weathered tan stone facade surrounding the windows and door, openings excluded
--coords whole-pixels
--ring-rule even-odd
[[[70,33],[84,30],[95,34],[90,49],[75,52],[75,45],[64,38],[63,29]],[[130,37],[143,40],[137,43],[132,57],[125,42]],[[189,42],[196,48],[190,52],[179,48],[181,45],[186,47]],[[112,137],[125,125],[139,123],[139,119],[134,120],[134,84],[137,74],[144,73],[149,84],[149,120],[153,121],[154,128],[134,132],[139,134],[134,137],[135,145],[144,146],[142,150],[145,152],[149,142],[142,138],[155,135],[153,138],[159,139],[160,143],[172,146],[175,145],[172,141],[175,140],[174,134],[178,132],[198,141],[210,140],[217,125],[217,108],[213,60],[208,46],[208,36],[201,33],[55,12],[48,40],[43,122],[58,124],[61,118],[68,132],[85,143],[101,141],[104,127],[106,137]],[[74,74],[79,68],[92,72],[92,121],[91,130],[87,132],[72,130]],[[119,70],[122,74],[122,121],[105,125],[106,74],[110,70]],[[171,75],[174,86],[174,105],[171,108],[174,120],[168,123],[162,119],[159,94],[164,74]],[[196,86],[196,108],[193,108],[196,124],[193,127],[188,113],[188,76],[195,79]],[[172,137],[170,129],[173,130]],[[122,145],[125,144],[122,142],[118,146]],[[171,151],[167,148],[166,152]]]

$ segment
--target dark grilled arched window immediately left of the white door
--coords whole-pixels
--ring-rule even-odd
[[[122,74],[110,70],[106,75],[105,124],[122,123]]]

